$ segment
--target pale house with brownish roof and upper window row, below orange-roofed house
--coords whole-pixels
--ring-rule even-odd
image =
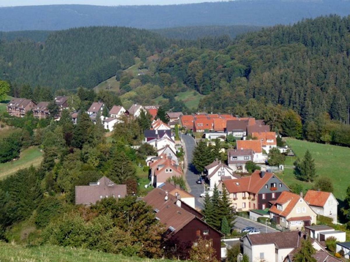
[[[251,149],[228,149],[227,162],[233,172],[248,172],[245,167],[247,161],[254,162],[254,152]]]

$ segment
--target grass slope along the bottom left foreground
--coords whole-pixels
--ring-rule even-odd
[[[138,261],[164,261],[156,259],[141,259],[139,257],[127,257],[87,249],[57,247],[57,246],[35,246],[24,247],[10,243],[0,242],[1,262],[138,262]]]

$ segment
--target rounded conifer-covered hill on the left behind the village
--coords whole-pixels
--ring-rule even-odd
[[[140,29],[90,27],[57,31],[45,43],[28,39],[0,42],[0,76],[15,83],[51,88],[92,88],[150,56],[170,41]]]

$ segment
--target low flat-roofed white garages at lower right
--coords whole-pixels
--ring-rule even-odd
[[[326,225],[306,226],[305,232],[308,233],[310,238],[316,239],[318,242],[327,240],[327,238],[333,237],[336,241],[345,242],[346,233],[344,231],[335,230],[334,228]]]

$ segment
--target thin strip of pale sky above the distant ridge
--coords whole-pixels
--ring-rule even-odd
[[[118,5],[170,5],[180,3],[201,3],[217,2],[218,0],[0,0],[0,7],[4,6],[33,6],[33,5],[62,5],[62,4],[80,4],[80,5],[100,5],[100,6],[118,6]]]

